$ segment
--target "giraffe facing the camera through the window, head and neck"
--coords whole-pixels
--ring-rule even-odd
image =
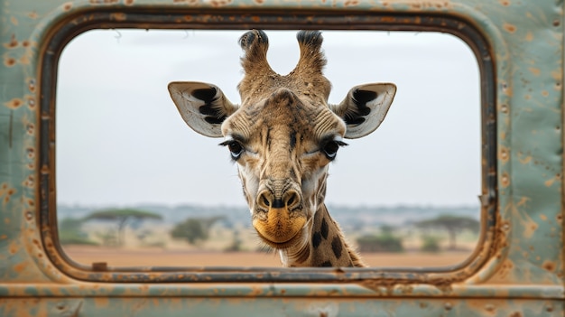
[[[236,162],[253,227],[278,251],[282,266],[366,266],[326,209],[329,163],[344,138],[375,131],[396,92],[392,83],[350,89],[329,105],[329,80],[319,31],[297,33],[300,60],[287,75],[266,59],[267,35],[246,32],[239,39],[245,72],[238,85],[241,104],[217,86],[171,82],[171,98],[194,131],[224,137]]]

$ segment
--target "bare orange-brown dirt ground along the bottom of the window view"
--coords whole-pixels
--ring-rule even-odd
[[[87,266],[94,262],[107,262],[108,266],[281,266],[274,253],[82,246],[64,247],[64,251],[72,260]],[[369,266],[438,267],[457,265],[467,259],[470,252],[368,253],[361,256]]]

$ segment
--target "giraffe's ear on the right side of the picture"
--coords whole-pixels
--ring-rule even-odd
[[[347,125],[345,137],[355,139],[375,131],[393,103],[396,85],[375,83],[359,85],[347,93],[339,105],[330,106]]]

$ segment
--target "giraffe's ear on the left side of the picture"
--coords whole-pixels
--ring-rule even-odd
[[[201,135],[221,137],[222,122],[237,110],[215,85],[173,81],[168,88],[184,122]]]

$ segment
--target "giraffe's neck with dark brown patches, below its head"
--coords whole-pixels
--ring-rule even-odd
[[[280,251],[283,266],[366,266],[357,252],[347,245],[338,223],[329,216],[325,204],[314,214],[311,232],[302,246]]]

